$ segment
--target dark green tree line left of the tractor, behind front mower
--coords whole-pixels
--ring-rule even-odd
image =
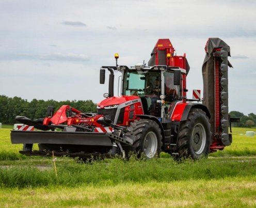
[[[16,116],[25,116],[30,119],[45,118],[47,116],[47,107],[53,106],[55,110],[62,105],[70,105],[83,113],[95,113],[97,106],[91,100],[73,100],[73,101],[55,101],[55,100],[27,100],[19,97],[9,98],[0,95],[0,122],[4,124],[14,124]]]

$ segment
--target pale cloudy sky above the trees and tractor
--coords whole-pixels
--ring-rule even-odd
[[[218,37],[230,45],[234,67],[229,111],[255,114],[255,10],[250,0],[0,0],[0,94],[98,103],[108,92],[100,68],[115,65],[115,53],[119,65],[147,63],[156,41],[169,38],[177,55],[186,53],[192,98],[203,89],[205,43]]]

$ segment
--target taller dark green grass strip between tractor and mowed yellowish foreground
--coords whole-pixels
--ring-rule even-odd
[[[166,158],[151,160],[120,158],[105,159],[93,164],[77,164],[74,160],[57,162],[58,177],[54,168],[41,170],[35,165],[7,166],[0,168],[0,187],[40,187],[49,185],[76,186],[83,184],[125,182],[172,182],[186,180],[213,180],[227,177],[250,177],[256,172],[256,157],[222,160],[174,162]],[[189,170],[189,171],[188,171]]]

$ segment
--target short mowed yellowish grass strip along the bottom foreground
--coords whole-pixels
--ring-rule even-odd
[[[1,207],[255,207],[256,178],[0,189]],[[10,197],[11,196],[11,197]]]

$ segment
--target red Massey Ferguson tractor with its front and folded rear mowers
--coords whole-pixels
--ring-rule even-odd
[[[148,66],[103,66],[100,83],[109,74],[109,91],[97,104],[97,114],[82,113],[64,105],[54,114],[48,108],[44,119],[16,120],[43,131],[12,131],[12,143],[23,143],[25,155],[87,158],[134,152],[152,158],[167,152],[175,158],[199,159],[223,150],[232,142],[228,116],[228,61],[230,47],[219,38],[210,38],[205,46],[202,73],[203,104],[197,90],[195,99],[187,99],[186,77],[189,65],[185,54],[174,55],[169,39],[159,39]],[[119,79],[120,96],[114,96],[114,72]],[[200,96],[200,95],[199,95]],[[24,128],[23,128],[24,129]],[[56,131],[61,129],[62,131]],[[33,144],[39,151],[33,151]]]

